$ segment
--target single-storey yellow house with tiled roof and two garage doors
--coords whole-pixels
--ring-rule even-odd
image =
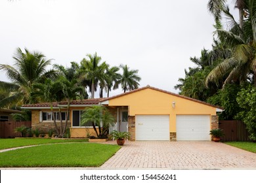
[[[58,107],[66,108],[67,103],[53,103],[56,120],[60,119]],[[218,128],[217,112],[223,108],[146,86],[131,92],[108,98],[85,99],[70,103],[68,126],[71,137],[86,137],[91,126],[81,126],[81,112],[87,107],[102,105],[115,116],[111,130],[129,131],[131,141],[211,141],[209,131]],[[53,127],[49,103],[24,105],[32,110],[32,127],[47,130]],[[62,120],[65,120],[65,110]]]

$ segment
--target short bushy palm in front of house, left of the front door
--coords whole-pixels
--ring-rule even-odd
[[[114,124],[114,116],[105,108],[101,106],[94,106],[85,108],[81,115],[81,125],[91,123],[98,138],[108,137],[108,128]],[[96,129],[98,126],[98,131]]]

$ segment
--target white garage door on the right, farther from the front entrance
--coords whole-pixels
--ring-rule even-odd
[[[210,141],[209,115],[177,115],[177,141]]]

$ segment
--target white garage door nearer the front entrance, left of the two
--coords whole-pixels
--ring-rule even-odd
[[[169,115],[136,115],[136,141],[169,141]]]

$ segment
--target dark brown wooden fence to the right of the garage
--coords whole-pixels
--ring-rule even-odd
[[[249,133],[246,129],[244,122],[240,121],[228,121],[220,120],[219,128],[223,129],[224,137],[221,138],[221,141],[250,141]]]

